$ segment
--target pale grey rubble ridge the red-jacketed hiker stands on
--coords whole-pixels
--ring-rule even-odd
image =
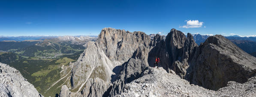
[[[255,97],[256,77],[246,83],[228,82],[218,91],[208,90],[181,79],[174,71],[149,67],[142,77],[127,83],[123,93],[115,97]]]

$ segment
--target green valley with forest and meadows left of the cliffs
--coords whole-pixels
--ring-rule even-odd
[[[1,41],[0,45],[9,48],[0,48],[0,62],[20,71],[45,97],[54,97],[69,82],[69,63],[75,62],[85,47],[57,38],[31,42]]]

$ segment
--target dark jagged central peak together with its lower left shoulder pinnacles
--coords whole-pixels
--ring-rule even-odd
[[[149,63],[154,64],[154,56],[160,57],[160,65],[166,71],[172,69],[184,78],[197,47],[192,34],[186,37],[183,32],[172,29],[166,38],[156,35],[153,43],[156,46],[149,53]]]

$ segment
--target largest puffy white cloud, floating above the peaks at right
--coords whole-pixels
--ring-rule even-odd
[[[185,20],[187,25],[179,26],[179,28],[200,28],[203,26],[204,22],[199,22],[199,20]],[[205,26],[204,26],[205,27]]]

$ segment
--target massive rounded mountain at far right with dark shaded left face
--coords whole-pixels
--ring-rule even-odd
[[[228,81],[245,83],[256,74],[256,58],[221,35],[208,37],[196,50],[186,79],[217,90]]]

